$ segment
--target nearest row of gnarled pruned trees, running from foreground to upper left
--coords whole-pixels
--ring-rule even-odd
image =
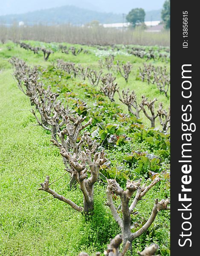
[[[14,77],[17,80],[18,87],[26,96],[29,96],[32,105],[31,112],[35,116],[38,125],[51,131],[51,142],[61,154],[65,172],[70,174],[71,185],[73,182],[78,183],[83,195],[83,206],[55,192],[51,188],[49,176],[46,176],[39,190],[51,194],[54,198],[63,201],[78,212],[86,215],[90,214],[94,209],[94,185],[99,179],[101,166],[107,162],[105,153],[99,147],[99,143],[93,140],[90,132],[88,132],[92,118],[79,116],[69,108],[65,108],[58,101],[57,93],[53,93],[50,87],[45,89],[39,79],[36,67],[30,68],[24,61],[17,58],[12,58],[10,62],[15,67]],[[151,182],[147,181],[145,184],[141,184],[142,180],[127,180],[126,189],[123,189],[116,180],[107,179],[107,206],[121,228],[122,236],[120,236],[120,239],[123,240],[124,252],[128,247],[131,250],[132,241],[150,227],[160,210],[170,209],[168,199],[162,199],[161,201],[156,199],[148,221],[139,230],[132,233],[130,215],[133,213],[136,204],[159,181],[159,177]],[[119,214],[114,205],[113,194],[120,197],[122,214]],[[106,255],[124,255],[120,254],[118,249],[115,250],[116,254],[111,254],[112,246],[111,243]]]

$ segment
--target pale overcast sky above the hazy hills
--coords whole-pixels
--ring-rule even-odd
[[[74,5],[99,12],[128,13],[133,8],[145,11],[162,9],[165,0],[0,0],[0,15],[32,12]]]

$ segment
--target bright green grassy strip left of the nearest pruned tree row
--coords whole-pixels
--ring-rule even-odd
[[[38,191],[46,174],[55,180],[64,167],[58,151],[49,148],[47,134],[33,126],[29,99],[11,73],[11,69],[0,72],[0,255],[78,255],[86,250],[84,243],[88,247],[87,232],[94,227],[67,205]],[[58,191],[67,182],[65,176],[53,188]],[[68,190],[67,186],[62,193],[82,204],[81,193]]]

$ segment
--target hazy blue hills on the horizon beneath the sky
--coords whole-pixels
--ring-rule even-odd
[[[160,20],[160,13],[161,10],[146,12],[145,20]],[[23,21],[27,25],[71,23],[80,26],[92,20],[98,20],[100,23],[121,23],[123,16],[122,14],[98,12],[75,6],[62,6],[24,14],[0,16],[0,21],[3,23],[12,24]]]

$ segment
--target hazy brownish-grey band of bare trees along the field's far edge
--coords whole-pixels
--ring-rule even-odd
[[[149,33],[141,29],[106,29],[101,26],[77,27],[59,26],[23,26],[0,25],[0,41],[34,40],[43,42],[67,42],[85,45],[139,44],[139,45],[170,45],[170,32]]]

